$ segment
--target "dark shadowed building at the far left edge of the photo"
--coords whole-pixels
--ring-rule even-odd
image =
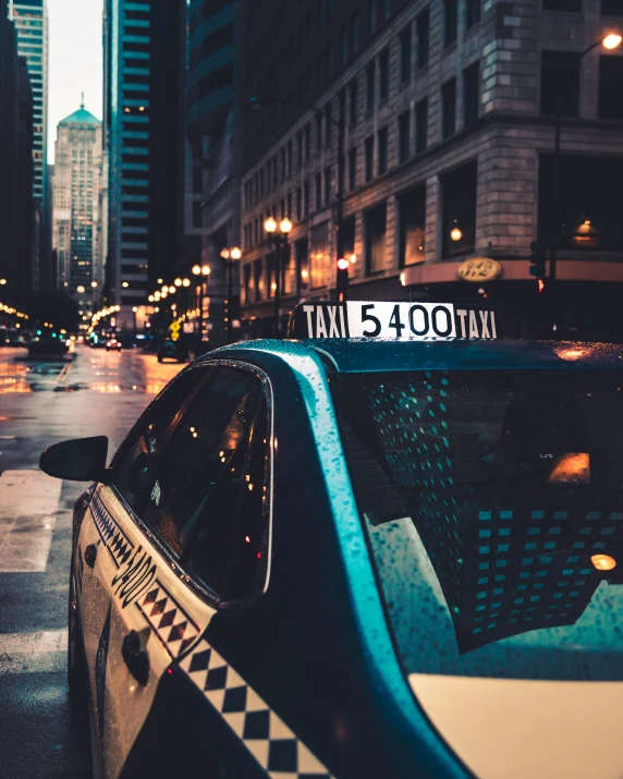
[[[15,25],[0,0],[0,301],[36,285],[38,206],[33,194],[33,96]]]

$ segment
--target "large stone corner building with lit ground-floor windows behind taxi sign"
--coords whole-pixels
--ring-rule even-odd
[[[335,296],[342,125],[351,300],[484,302],[510,336],[623,334],[623,51],[585,53],[610,32],[623,33],[614,0],[252,10],[245,88],[260,99],[245,121],[245,331],[271,331],[269,215],[294,224],[283,318],[302,299]],[[530,244],[557,234],[557,281],[539,294]],[[471,257],[496,260],[499,276],[465,281]]]

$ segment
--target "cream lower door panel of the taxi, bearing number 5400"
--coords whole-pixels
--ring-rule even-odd
[[[91,513],[100,541],[94,568],[100,582],[94,625],[101,625],[101,632],[88,662],[105,776],[115,779],[161,675],[198,641],[215,609],[180,580],[111,487],[99,488]],[[102,593],[107,602],[100,608]]]

